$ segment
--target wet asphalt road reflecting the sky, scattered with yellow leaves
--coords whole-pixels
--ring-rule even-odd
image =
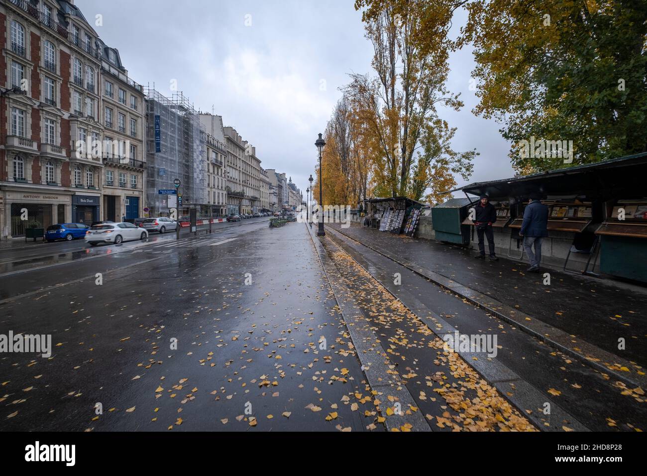
[[[301,223],[1,258],[3,431],[384,429]]]

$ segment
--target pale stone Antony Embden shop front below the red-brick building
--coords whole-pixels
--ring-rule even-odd
[[[25,229],[47,228],[65,223],[71,217],[71,194],[36,192],[34,190],[2,190],[3,222],[1,237],[25,236]]]

